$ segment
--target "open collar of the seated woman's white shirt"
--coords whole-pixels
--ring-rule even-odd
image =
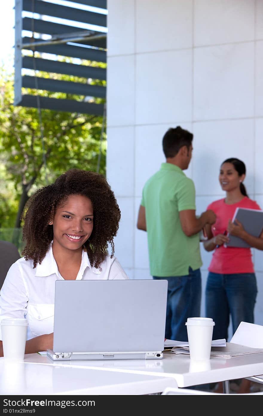
[[[78,275],[76,280],[81,280],[86,268],[89,267],[93,273],[96,275],[100,275],[101,271],[96,269],[95,267],[91,267],[91,263],[88,258],[87,252],[83,249],[82,250],[82,258],[81,258],[81,265],[79,268]],[[50,244],[49,250],[45,255],[44,259],[42,260],[41,264],[37,263],[37,270],[36,276],[37,277],[47,277],[50,275],[56,274],[57,277],[60,277],[59,269],[57,267],[56,260],[54,259],[53,251],[52,251],[52,243]]]

